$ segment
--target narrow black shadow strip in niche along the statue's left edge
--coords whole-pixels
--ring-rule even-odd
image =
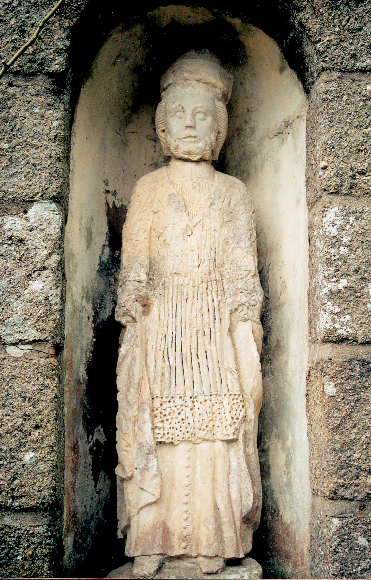
[[[87,383],[82,405],[82,422],[89,441],[91,475],[97,495],[104,486],[109,497],[100,513],[90,514],[80,538],[91,536],[91,549],[83,563],[75,568],[80,577],[105,577],[123,565],[124,540],[118,539],[116,509],[116,364],[122,325],[115,320],[117,277],[120,269],[121,231],[126,208],[106,205],[108,230],[97,271],[93,299],[94,338],[86,368]],[[82,546],[81,546],[82,548]]]

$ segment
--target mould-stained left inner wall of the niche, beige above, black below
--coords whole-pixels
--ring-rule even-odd
[[[148,128],[141,114],[140,129],[135,125],[136,115],[128,124],[133,92],[138,86],[135,71],[144,59],[144,35],[139,34],[138,28],[120,29],[109,38],[95,61],[94,74],[83,86],[72,129],[71,194],[64,247],[67,291],[63,355],[64,560],[68,570],[75,570],[76,562],[83,561],[88,552],[96,557],[95,546],[101,546],[97,539],[101,533],[101,513],[109,514],[105,525],[111,530],[117,525],[111,503],[116,487],[115,437],[112,416],[105,405],[115,404],[117,393],[115,361],[120,324],[115,324],[114,311],[122,226],[117,226],[114,248],[106,213],[111,212],[117,218],[121,211],[121,219],[124,218],[123,199],[127,204],[135,180],[156,162],[152,157],[155,128]],[[158,140],[156,144],[160,151]],[[138,166],[142,172],[137,169],[135,175]],[[122,205],[120,210],[118,205]],[[101,344],[112,356],[109,371],[100,364],[98,325],[102,329]],[[91,371],[95,348],[100,351]],[[100,374],[105,383],[102,405],[101,399],[95,397],[95,393],[101,392]],[[97,385],[94,394],[93,381]],[[104,447],[102,454],[95,451],[100,445]]]

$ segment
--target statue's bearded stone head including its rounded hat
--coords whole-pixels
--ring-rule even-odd
[[[228,127],[232,75],[210,53],[188,52],[161,78],[156,131],[164,154],[199,161],[218,159]]]

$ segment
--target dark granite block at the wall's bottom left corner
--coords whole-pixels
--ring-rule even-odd
[[[0,512],[0,576],[50,577],[58,572],[60,527],[40,512]]]

